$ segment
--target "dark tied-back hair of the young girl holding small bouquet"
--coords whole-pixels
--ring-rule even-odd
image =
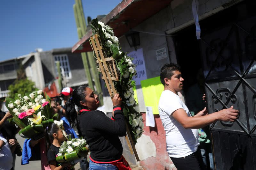
[[[44,130],[44,135],[46,139],[46,151],[50,148],[52,141],[53,141],[53,133],[58,133],[60,130],[60,127],[52,123],[50,126],[47,126],[47,128]]]

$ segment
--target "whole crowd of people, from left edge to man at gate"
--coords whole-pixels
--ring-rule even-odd
[[[164,91],[161,94],[158,109],[166,133],[166,149],[169,157],[178,170],[207,169],[207,161],[208,169],[212,169],[210,140],[205,133],[207,130],[202,128],[219,120],[234,122],[239,111],[233,109],[232,106],[208,114],[204,105],[191,105],[191,103],[188,108],[178,96],[178,92],[183,89],[184,79],[177,64],[164,64],[160,70],[160,80],[164,85]],[[199,79],[198,82],[200,82]],[[202,90],[200,91],[202,89],[200,84],[193,88],[194,90],[191,91],[199,93],[200,96],[203,94]],[[191,94],[187,99],[193,101],[194,96],[196,95]],[[123,147],[118,138],[126,134],[122,99],[119,94],[113,97],[112,102],[114,107],[111,118],[97,110],[100,106],[98,96],[87,86],[76,87],[74,91],[66,87],[60,96],[51,102],[52,111],[59,113],[66,133],[72,138],[83,137],[88,144],[90,160],[88,163],[85,157],[80,161],[82,170],[88,168],[95,170],[131,169],[122,156]],[[41,160],[42,169],[74,169],[74,165],[68,162],[56,161],[60,145],[66,140],[58,125],[52,123],[47,127],[45,136],[40,140],[26,139],[22,150],[15,138],[20,129],[11,121],[7,121],[10,117],[9,112],[0,112],[0,169],[14,169],[16,155],[22,155],[22,164],[28,164],[31,160]],[[74,127],[77,128],[77,133]],[[200,137],[199,133],[201,133]],[[42,144],[46,145],[45,154],[38,153],[42,152],[42,148],[40,149]],[[205,154],[209,154],[208,160]]]

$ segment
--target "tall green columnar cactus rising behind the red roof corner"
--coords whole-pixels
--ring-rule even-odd
[[[81,0],[75,0],[75,2],[76,3],[73,5],[73,10],[74,10],[75,19],[76,19],[78,38],[81,39],[87,32],[87,26],[84,19],[82,2]],[[84,70],[85,70],[86,77],[88,79],[89,87],[95,91],[93,81],[92,81],[92,78],[93,78],[96,86],[96,94],[99,95],[100,103],[103,104],[103,93],[102,93],[101,84],[100,84],[100,77],[97,71],[96,60],[93,56],[93,52],[86,52],[86,53],[84,52],[84,53],[81,53],[81,55],[82,55]],[[91,68],[91,71],[90,71],[90,68]]]

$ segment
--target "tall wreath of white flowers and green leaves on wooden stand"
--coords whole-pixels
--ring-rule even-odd
[[[122,98],[124,116],[129,123],[133,143],[136,144],[143,133],[144,124],[138,103],[134,100],[135,81],[132,81],[132,77],[136,76],[136,70],[132,63],[133,58],[121,51],[118,38],[111,27],[98,22],[98,19],[92,20],[91,27],[93,35],[97,34],[99,37],[104,57],[113,57],[118,69],[119,81],[113,81],[113,84]]]

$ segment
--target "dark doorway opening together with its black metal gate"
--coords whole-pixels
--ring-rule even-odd
[[[231,105],[240,111],[236,122],[210,126],[217,170],[256,169],[255,9],[256,1],[243,1],[200,21],[201,40],[195,40],[195,26],[190,26],[174,41],[185,86],[193,84],[195,70],[203,68],[208,112]]]

